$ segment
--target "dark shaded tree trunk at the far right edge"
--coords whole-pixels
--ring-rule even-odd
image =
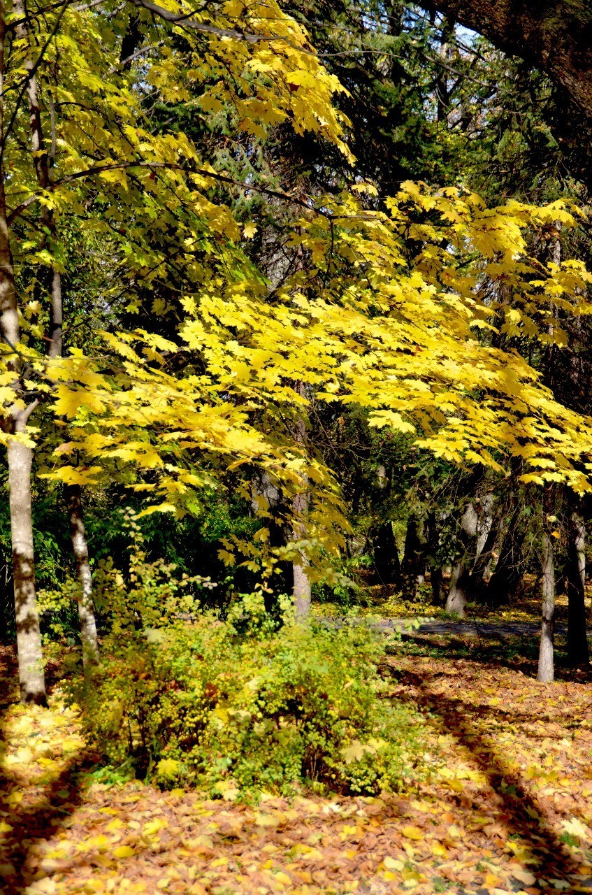
[[[586,530],[579,513],[572,513],[567,551],[566,586],[568,599],[567,657],[571,666],[588,665],[588,636],[584,576],[586,574]]]

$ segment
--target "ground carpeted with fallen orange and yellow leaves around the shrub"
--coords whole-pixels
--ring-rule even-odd
[[[56,682],[49,709],[12,702],[3,648],[1,891],[592,892],[590,684],[563,669],[537,684],[531,652],[410,635],[385,673],[423,712],[427,776],[394,796],[249,806],[101,778]]]

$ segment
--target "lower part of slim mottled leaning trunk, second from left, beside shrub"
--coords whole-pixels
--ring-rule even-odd
[[[70,537],[76,563],[76,576],[80,592],[78,595],[78,616],[80,618],[80,641],[82,642],[82,664],[84,668],[98,661],[97,621],[92,601],[92,574],[80,499],[80,485],[66,485],[64,496],[70,518]]]

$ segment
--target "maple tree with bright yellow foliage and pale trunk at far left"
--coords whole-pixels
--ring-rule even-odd
[[[169,103],[187,102],[191,90],[202,85],[201,109],[217,113],[231,103],[238,129],[259,138],[266,128],[289,119],[297,131],[322,133],[351,163],[343,142],[345,119],[331,104],[339,83],[309,50],[306,32],[279,9],[270,17],[249,7],[248,21],[242,24],[252,25],[252,35],[227,27],[238,10],[232,4],[220,9],[216,23],[186,20],[182,30],[185,39],[191,32],[191,40],[181,49],[162,37],[164,27],[166,34],[171,25],[177,27],[175,14],[160,7],[145,9],[150,15],[136,21],[127,10],[106,19],[104,11],[64,6],[49,24],[41,24],[15,8],[14,23],[8,22],[19,39],[6,64],[6,151],[10,148],[8,164],[21,179],[12,178],[7,186],[8,200],[16,205],[7,212],[6,224],[19,233],[18,268],[49,268],[53,281],[49,352],[44,356],[34,344],[42,329],[33,323],[27,372],[17,380],[21,355],[15,349],[24,318],[17,320],[13,274],[7,268],[4,400],[9,479],[14,470],[14,543],[24,544],[14,551],[23,674],[25,668],[32,674],[40,663],[26,435],[40,398],[58,418],[65,414],[74,422],[58,451],[88,458],[80,472],[61,465],[52,473],[71,488],[100,481],[101,475],[113,474],[113,461],[127,460],[139,474],[136,489],[161,494],[161,508],[183,511],[192,490],[204,481],[195,458],[212,452],[232,458],[233,465],[241,461],[272,471],[281,490],[292,494],[292,509],[305,488],[306,518],[295,530],[307,537],[292,541],[292,554],[295,550],[301,557],[314,553],[315,544],[334,549],[340,542],[336,527],[345,521],[330,471],[306,456],[303,445],[294,443],[293,427],[282,422],[282,414],[303,413],[306,407],[306,396],[289,384],[295,375],[300,388],[312,389],[317,400],[368,407],[373,426],[417,427],[423,436],[419,444],[448,460],[477,460],[501,469],[495,454],[509,452],[532,467],[522,476],[525,482],[555,479],[579,490],[588,487],[585,468],[579,465],[588,446],[586,419],[554,403],[516,356],[475,335],[476,329],[478,334],[479,328],[495,325],[497,314],[503,334],[545,341],[548,333],[538,322],[541,315],[545,318],[545,303],[561,305],[568,314],[588,311],[579,297],[585,294],[588,275],[579,263],[516,263],[525,255],[525,227],[558,220],[569,226],[573,213],[558,202],[543,209],[520,203],[484,209],[470,194],[430,194],[411,184],[404,184],[385,210],[372,207],[371,184],[362,185],[360,199],[350,192],[331,199],[318,196],[312,204],[300,200],[300,217],[292,215],[285,244],[304,253],[309,263],[284,279],[270,303],[265,280],[236,246],[241,230],[233,209],[207,198],[215,183],[231,187],[233,178],[203,160],[184,132],[149,126],[150,107],[142,104],[138,77],[141,72],[154,95]],[[87,39],[63,72],[60,56],[72,48],[72,35],[80,28]],[[37,62],[32,35],[47,43]],[[145,43],[156,38],[156,45]],[[204,46],[213,47],[205,71],[195,68],[195,54]],[[234,81],[239,79],[238,87],[227,75],[221,78],[216,54],[223,49],[224,65],[230,66]],[[10,77],[15,84],[22,77],[27,85],[13,105]],[[39,105],[38,83],[47,91],[47,109]],[[18,127],[23,136],[29,129],[32,153],[23,151],[26,138],[11,141]],[[107,373],[101,370],[103,356],[98,361],[77,351],[60,356],[56,295],[63,247],[58,237],[60,219],[67,214],[112,240],[112,251],[123,251],[124,282],[133,281],[136,293],[154,296],[153,315],[165,316],[168,310],[156,286],[164,282],[165,294],[170,293],[169,284],[175,281],[185,315],[176,338],[169,336],[168,325],[166,334],[143,327],[115,329],[105,336],[104,350],[112,358]],[[439,218],[436,224],[422,221],[430,215]],[[41,243],[33,232],[39,224],[45,231]],[[254,233],[253,225],[244,227],[247,238]],[[450,241],[444,251],[438,247],[443,235]],[[414,248],[410,254],[406,240],[419,243],[419,252]],[[194,245],[199,249],[188,251]],[[10,251],[7,229],[5,252]],[[475,298],[484,283],[502,281],[512,294],[520,294],[520,306]],[[30,289],[35,282],[34,277]],[[30,317],[37,315],[35,301],[28,307]],[[127,311],[140,314],[140,296],[131,298]],[[241,333],[238,343],[235,332]],[[554,341],[562,339],[557,327]],[[459,360],[452,360],[459,346]],[[181,375],[166,372],[167,356],[181,354],[188,360]],[[191,355],[195,360],[189,362]],[[197,378],[195,362],[205,364]],[[484,387],[485,400],[475,395],[475,389]],[[27,393],[34,394],[29,402],[23,400]],[[258,424],[261,408],[266,425],[272,426],[271,438]],[[142,481],[142,470],[150,470],[153,481]],[[153,471],[158,470],[155,482]],[[24,489],[21,494],[19,488]],[[322,513],[317,510],[321,506]],[[282,548],[284,558],[287,548]],[[233,561],[232,552],[228,559]],[[314,575],[309,558],[306,563],[307,575]],[[30,684],[23,678],[23,688],[25,695],[29,692],[26,698],[42,698],[39,670]]]

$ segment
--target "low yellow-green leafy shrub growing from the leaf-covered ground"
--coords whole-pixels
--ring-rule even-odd
[[[401,788],[419,751],[419,719],[383,698],[382,654],[364,626],[239,635],[169,617],[115,626],[74,698],[110,763],[131,758],[165,787],[376,793]]]

